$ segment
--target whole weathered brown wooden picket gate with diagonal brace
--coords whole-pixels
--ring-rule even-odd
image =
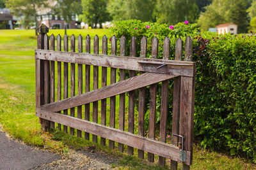
[[[185,45],[185,60],[187,61],[180,61],[183,46],[180,38],[176,41],[175,60],[168,60],[170,55],[169,38],[164,39],[163,59],[157,59],[159,42],[157,38],[152,39],[152,59],[148,59],[145,58],[148,41],[145,37],[141,39],[140,57],[136,57],[135,37],[131,39],[130,57],[125,57],[126,40],[124,36],[120,39],[120,56],[116,56],[117,39],[115,36],[111,39],[111,55],[108,55],[108,38],[106,36],[102,38],[102,54],[99,54],[99,38],[98,36],[94,37],[93,54],[91,54],[90,36],[86,36],[85,53],[83,53],[81,35],[77,39],[77,52],[74,35],[70,38],[70,52],[68,52],[68,36],[63,38],[63,51],[61,51],[60,35],[57,36],[57,51],[54,51],[54,35],[51,35],[50,46],[47,36],[48,28],[42,24],[38,27],[38,31],[40,32],[38,50],[35,50],[36,116],[40,117],[42,129],[54,128],[54,122],[56,122],[59,131],[63,129],[64,132],[68,132],[67,127],[70,127],[70,134],[74,135],[75,129],[77,129],[79,138],[81,138],[82,132],[84,132],[84,138],[88,140],[90,139],[89,134],[92,134],[92,141],[97,143],[97,136],[100,136],[101,145],[106,145],[106,139],[109,139],[109,148],[115,148],[115,142],[117,142],[120,152],[124,152],[124,145],[127,145],[130,155],[134,154],[134,148],[138,148],[138,157],[141,159],[144,159],[144,152],[148,152],[148,161],[150,162],[154,162],[154,155],[159,155],[161,166],[165,165],[165,158],[168,158],[172,160],[172,169],[177,169],[177,162],[182,162],[184,169],[189,169],[192,164],[193,152],[195,94],[195,62],[190,62],[192,57],[190,37],[186,38]],[[55,68],[55,62],[57,62],[57,68]],[[90,66],[93,66],[93,90],[90,90]],[[98,89],[99,66],[102,69],[100,89]],[[85,71],[83,71],[83,67],[85,67]],[[110,85],[107,85],[109,78],[107,77],[107,67],[111,67]],[[118,82],[116,82],[116,69],[119,69],[118,73],[120,73]],[[125,70],[129,70],[127,79],[125,79]],[[138,74],[139,71],[140,74]],[[84,73],[85,75],[83,75]],[[68,81],[68,76],[70,76],[70,81]],[[168,80],[172,78],[174,78],[172,144],[167,144]],[[84,82],[85,85],[83,85]],[[159,135],[157,135],[160,141],[157,141],[154,138],[156,134],[157,83],[159,82],[161,82],[161,115]],[[147,86],[150,88],[150,113],[148,136],[145,136]],[[85,88],[83,89],[83,87]],[[135,90],[138,90],[139,93],[138,135],[134,134]],[[125,93],[129,94],[128,132],[125,132]],[[116,96],[119,96],[118,115],[116,114]],[[109,125],[106,124],[107,98],[110,98]],[[98,101],[101,101],[100,124]],[[90,103],[93,103],[92,120],[90,120]],[[116,117],[118,117],[118,129],[115,128]]]

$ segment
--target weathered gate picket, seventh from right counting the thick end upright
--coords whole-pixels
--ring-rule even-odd
[[[126,52],[126,38],[122,36],[120,39],[120,56],[125,56]],[[120,81],[125,80],[125,70],[120,69]],[[119,96],[119,129],[124,131],[125,125],[125,93]],[[118,151],[124,152],[124,145],[118,143]]]

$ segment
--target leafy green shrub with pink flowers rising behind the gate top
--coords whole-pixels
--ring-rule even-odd
[[[163,57],[163,41],[166,36],[171,39],[171,49],[173,50],[177,38],[181,37],[185,40],[188,35],[193,37],[198,35],[196,24],[184,24],[183,22],[172,26],[152,22],[141,22],[140,20],[122,20],[116,22],[109,30],[111,36],[115,35],[117,39],[120,39],[123,35],[125,36],[127,39],[127,55],[129,55],[130,39],[132,36],[135,36],[137,39],[138,56],[140,56],[140,40],[143,36],[146,36],[148,39],[148,57],[150,57],[151,39],[156,36],[159,39],[159,58]],[[117,45],[119,47],[119,42]],[[174,55],[172,55],[171,58],[174,59]]]

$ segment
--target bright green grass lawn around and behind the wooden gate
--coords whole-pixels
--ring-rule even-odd
[[[48,35],[52,33],[55,36],[60,33],[63,37],[64,31],[51,30]],[[71,33],[75,34],[76,38],[78,34],[81,34],[83,39],[87,34],[90,34],[91,39],[95,34],[98,34],[100,39],[104,34],[108,36],[106,29],[67,31],[69,36]],[[35,49],[34,30],[0,30],[0,124],[3,130],[14,138],[24,141],[24,143],[42,146],[59,153],[67,153],[71,145],[75,149],[92,146],[93,143],[90,141],[68,136],[62,132],[54,131],[49,134],[40,130],[38,117],[35,117]],[[91,49],[93,48],[91,47]],[[116,103],[118,105],[118,98]],[[58,139],[58,141],[53,139]],[[108,147],[97,145],[97,148],[104,152],[111,152]],[[120,169],[162,169],[157,164],[150,164],[136,159],[136,157],[121,153],[115,154],[119,154],[122,159],[113,167]],[[245,159],[229,157],[194,146],[191,169],[256,169],[256,166],[248,163]]]

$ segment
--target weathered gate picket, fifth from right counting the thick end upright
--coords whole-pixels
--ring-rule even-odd
[[[141,39],[140,57],[147,57],[147,38],[144,36]],[[146,87],[139,89],[139,104],[138,104],[138,135],[144,136],[144,118],[145,118],[145,96]],[[138,157],[144,159],[144,151],[138,150]]]

